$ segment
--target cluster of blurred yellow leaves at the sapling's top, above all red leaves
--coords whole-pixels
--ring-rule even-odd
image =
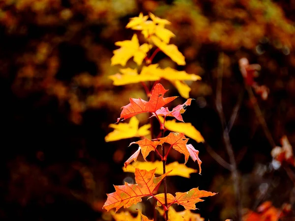
[[[110,79],[114,81],[114,85],[166,79],[177,88],[182,97],[189,98],[191,88],[184,81],[197,81],[201,79],[200,76],[188,74],[185,71],[177,71],[170,67],[160,69],[158,64],[149,65],[152,57],[148,57],[148,52],[153,46],[168,55],[178,65],[185,65],[185,57],[178,51],[177,46],[168,44],[171,37],[175,36],[174,33],[165,28],[165,25],[169,25],[170,22],[160,19],[152,13],[149,13],[149,17],[151,20],[148,20],[148,16],[143,16],[140,13],[139,17],[131,18],[126,26],[126,28],[140,30],[148,43],[140,45],[137,35],[134,34],[131,40],[115,43],[120,48],[114,51],[114,56],[111,58],[111,65],[120,64],[122,66],[125,66],[131,57],[138,66],[146,58],[148,66],[144,66],[140,74],[138,74],[137,69],[120,69],[120,73],[111,75]]]

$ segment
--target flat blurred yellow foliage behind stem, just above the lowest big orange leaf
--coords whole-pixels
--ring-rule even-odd
[[[163,163],[162,161],[155,162],[133,162],[129,164],[126,168],[123,166],[124,172],[135,172],[135,168],[151,170],[156,168],[156,174],[163,174]],[[182,176],[186,178],[190,178],[191,173],[197,172],[196,169],[189,168],[184,164],[179,164],[177,161],[171,164],[166,165],[166,170],[172,170],[167,176]]]

